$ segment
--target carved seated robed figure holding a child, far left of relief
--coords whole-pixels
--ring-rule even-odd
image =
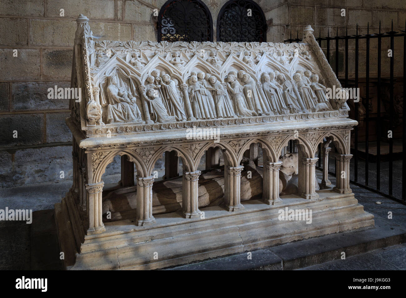
[[[106,95],[108,99],[107,123],[143,121],[136,98],[127,90],[117,88],[117,77],[108,77]]]

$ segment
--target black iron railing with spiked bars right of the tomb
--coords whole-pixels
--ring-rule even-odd
[[[398,38],[403,38],[403,49],[402,46],[399,46],[397,49],[395,49],[395,37]],[[371,39],[377,39],[378,47],[377,49],[370,49],[370,41]],[[389,69],[389,75],[384,75],[382,76],[382,68],[381,68],[381,63],[382,63],[382,41],[388,41],[390,42],[389,49],[391,50],[391,56],[390,56],[390,69]],[[330,36],[330,32],[328,32],[327,37],[321,37],[320,36],[320,31],[319,31],[319,37],[316,38],[318,41],[320,47],[322,47],[322,41],[326,42],[326,45],[323,45],[323,50],[324,54],[326,55],[326,58],[328,62],[330,63],[330,41],[335,41],[335,61],[334,64],[330,63],[330,65],[335,66],[335,74],[341,81],[341,85],[343,85],[344,88],[349,88],[349,87],[355,87],[358,88],[360,85],[360,79],[362,79],[363,84],[365,85],[365,96],[363,96],[363,101],[356,102],[354,101],[354,113],[351,116],[354,118],[354,120],[357,120],[358,122],[360,121],[360,115],[359,115],[359,105],[364,103],[363,107],[365,108],[365,114],[363,116],[363,121],[365,123],[365,128],[362,128],[363,131],[362,133],[365,132],[365,141],[364,141],[364,146],[363,146],[363,151],[360,151],[360,146],[359,146],[359,133],[360,133],[360,127],[356,126],[354,128],[353,135],[354,137],[351,139],[351,152],[353,154],[352,158],[352,169],[354,171],[353,176],[350,176],[352,179],[350,180],[352,183],[364,187],[366,189],[369,189],[371,191],[375,191],[381,195],[384,195],[386,197],[389,197],[391,199],[394,199],[398,202],[402,202],[403,204],[406,203],[406,159],[404,158],[404,152],[406,152],[406,120],[405,120],[405,115],[406,115],[406,105],[404,101],[404,96],[406,94],[406,24],[405,24],[405,30],[400,30],[400,32],[396,32],[393,30],[393,21],[392,21],[392,27],[390,32],[386,33],[381,33],[381,26],[379,24],[379,32],[370,34],[369,33],[369,24],[367,27],[367,34],[358,34],[358,25],[356,26],[356,32],[355,35],[348,35],[348,30],[346,30],[346,35],[345,36],[339,36],[338,35],[338,28],[337,28],[337,33],[336,36]],[[344,41],[345,43],[345,48],[344,48],[344,73],[341,77],[339,75],[339,42]],[[355,50],[350,49],[348,47],[348,43],[350,40],[355,41]],[[359,77],[359,63],[360,63],[360,42],[363,42],[365,40],[365,77]],[[285,42],[301,42],[301,39],[298,38],[298,33],[296,35],[296,38],[292,39],[292,32],[291,36],[289,39],[285,40]],[[341,43],[342,45],[342,43]],[[388,50],[389,50],[388,49]],[[401,57],[397,53],[399,51],[403,50],[403,63],[400,62]],[[349,51],[354,51],[354,60],[350,61],[350,56],[349,56]],[[375,52],[375,53],[374,53]],[[370,131],[369,129],[369,124],[371,121],[370,117],[370,112],[369,112],[369,106],[370,104],[370,94],[369,94],[369,87],[371,84],[371,78],[370,78],[370,55],[376,54],[377,60],[376,60],[376,65],[373,65],[373,67],[376,67],[377,73],[376,73],[376,78],[374,77],[374,85],[376,85],[376,98],[372,99],[372,101],[376,100],[376,129],[374,131]],[[333,54],[334,56],[334,54]],[[396,61],[395,61],[396,60]],[[354,63],[354,77],[349,78],[349,72],[348,72],[348,65],[350,63]],[[363,63],[364,61],[361,61]],[[402,65],[403,64],[403,65]],[[400,120],[402,118],[402,131],[398,133],[396,140],[402,141],[402,150],[399,150],[399,146],[397,147],[397,152],[394,154],[393,152],[393,141],[395,134],[394,132],[394,119],[395,119],[395,111],[394,111],[394,89],[395,89],[395,77],[394,77],[394,68],[396,67],[397,70],[399,70],[403,66],[403,77],[397,78],[397,84],[401,84],[403,81],[403,94],[400,92],[397,96],[400,96],[397,105],[400,105],[401,103],[403,104],[403,109],[400,111],[399,109],[397,110],[397,115],[401,116],[397,117],[396,119]],[[382,98],[382,83],[385,82],[385,84],[389,84],[389,101],[386,98]],[[400,86],[400,85],[399,85]],[[397,86],[397,87],[399,87]],[[358,94],[359,95],[359,94]],[[387,100],[385,102],[385,99]],[[381,101],[384,101],[386,103],[385,105],[385,110],[382,111],[381,107]],[[389,108],[389,111],[388,111]],[[382,136],[386,134],[386,132],[382,131],[382,121],[387,120],[388,122],[388,132],[391,131],[392,135],[391,137],[387,138],[387,143],[389,143],[389,153],[386,155],[386,159],[382,161],[382,139],[384,139]],[[399,123],[397,123],[399,124]],[[372,161],[370,161],[370,137],[374,137],[376,139],[376,151],[374,155],[374,158]],[[384,140],[386,141],[386,140]],[[321,153],[321,145],[319,145],[319,157]],[[400,160],[402,162],[400,163]],[[395,180],[394,180],[394,162],[395,162]],[[371,165],[373,163],[373,165]],[[370,167],[371,165],[371,167]],[[321,167],[321,158],[319,158],[319,163],[318,166]],[[388,168],[388,176],[387,179],[382,179],[381,175],[381,170],[382,167]],[[376,181],[373,181],[370,179],[370,174],[374,172],[374,169],[376,169]],[[333,172],[331,174],[334,175]],[[363,174],[362,176],[365,177],[358,177],[358,174]],[[365,178],[364,183],[362,183],[361,178]],[[394,189],[394,182],[395,182],[395,189]]]

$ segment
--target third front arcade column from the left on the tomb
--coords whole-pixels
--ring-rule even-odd
[[[182,209],[185,218],[200,217],[199,176],[201,172],[183,172]]]

